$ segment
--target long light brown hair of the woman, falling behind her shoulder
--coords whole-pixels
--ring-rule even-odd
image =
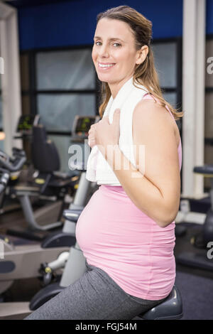
[[[136,65],[135,72],[133,73],[133,84],[139,84],[146,87],[148,92],[153,95],[154,99],[158,99],[160,105],[165,107],[168,106],[170,112],[176,120],[182,117],[183,112],[178,112],[178,109],[172,107],[168,102],[163,98],[162,91],[160,89],[160,84],[158,80],[158,73],[155,70],[153,50],[151,48],[152,40],[152,23],[145,16],[138,13],[135,9],[132,9],[129,6],[118,6],[103,13],[97,15],[97,23],[101,18],[109,18],[114,20],[124,21],[129,24],[133,36],[136,41],[136,50],[142,48],[143,45],[148,45],[148,55],[142,64]],[[111,96],[111,91],[107,82],[102,82],[101,87],[101,99],[102,104],[99,107],[99,114],[102,117],[109,98]],[[155,100],[156,102],[156,100]]]

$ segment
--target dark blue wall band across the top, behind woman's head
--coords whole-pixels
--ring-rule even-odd
[[[182,36],[182,0],[78,0],[18,9],[20,49],[91,45],[97,14],[120,5],[150,19],[153,38]]]

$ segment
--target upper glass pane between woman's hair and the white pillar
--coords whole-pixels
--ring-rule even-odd
[[[160,87],[176,87],[176,43],[155,43],[152,45],[152,48],[155,60],[155,68],[159,76]]]

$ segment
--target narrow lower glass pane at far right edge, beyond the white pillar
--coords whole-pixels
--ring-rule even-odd
[[[205,128],[204,137],[213,138],[213,92],[205,95]]]

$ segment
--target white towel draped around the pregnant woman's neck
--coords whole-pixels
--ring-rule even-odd
[[[112,96],[110,97],[103,115],[103,117],[109,116],[109,124],[111,124],[114,111],[118,108],[121,109],[119,148],[135,167],[136,162],[133,155],[132,139],[133,110],[147,92],[143,85],[137,84],[137,87],[135,87],[133,85],[133,77],[131,77],[121,87],[115,99],[113,99]],[[97,146],[94,146],[89,154],[86,178],[88,181],[97,182],[99,185],[121,185],[111,166],[109,166],[109,163]]]

